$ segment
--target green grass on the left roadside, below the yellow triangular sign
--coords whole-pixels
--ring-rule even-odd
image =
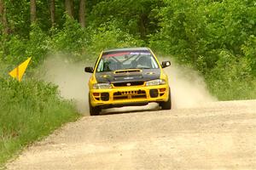
[[[0,167],[27,144],[79,117],[57,87],[35,80],[0,78]]]

